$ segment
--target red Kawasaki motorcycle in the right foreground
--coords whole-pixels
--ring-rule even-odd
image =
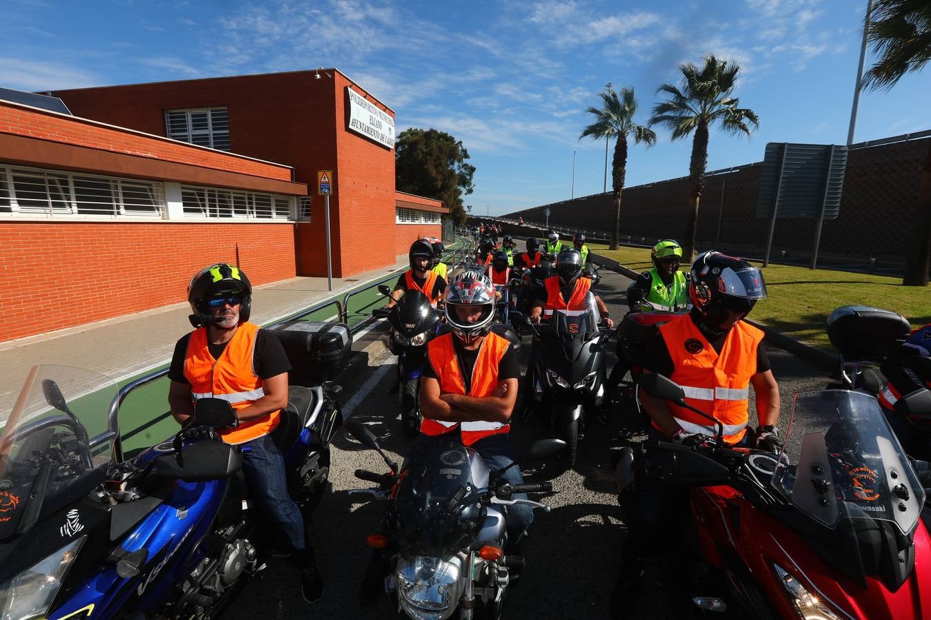
[[[667,377],[638,380],[647,393],[688,406]],[[687,487],[699,558],[686,562],[694,574],[718,577],[702,582],[717,591],[689,593],[696,614],[931,617],[923,480],[875,399],[840,389],[796,394],[778,455],[730,447],[715,424],[715,440],[696,448],[643,442],[618,469],[620,483],[632,474]]]

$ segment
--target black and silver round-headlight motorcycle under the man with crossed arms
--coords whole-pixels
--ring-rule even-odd
[[[371,430],[351,419],[344,427],[377,450],[390,468],[385,474],[357,469],[358,479],[378,486],[349,493],[387,500],[382,531],[367,542],[377,549],[373,567],[385,569],[385,589],[395,609],[417,620],[449,618],[457,608],[465,620],[476,612],[500,618],[514,572],[524,563],[504,553],[507,507],[522,504],[548,512],[543,504],[512,495],[546,493],[552,483],[511,484],[501,477],[504,470],[489,470],[456,432],[418,441],[398,470]],[[558,440],[534,442],[519,462],[555,455],[563,447]]]

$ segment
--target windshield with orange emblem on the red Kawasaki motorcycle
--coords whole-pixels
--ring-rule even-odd
[[[924,489],[879,403],[843,389],[795,395],[773,486],[832,530],[845,520],[888,521],[909,535],[924,506]]]

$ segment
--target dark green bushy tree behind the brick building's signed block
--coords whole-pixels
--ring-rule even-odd
[[[475,166],[462,140],[436,129],[405,129],[395,142],[398,191],[442,201],[457,225],[466,223],[463,196],[472,193]]]

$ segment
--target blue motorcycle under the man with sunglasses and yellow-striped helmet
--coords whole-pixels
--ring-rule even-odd
[[[292,381],[273,431],[303,509],[342,425],[338,388],[316,383]],[[215,617],[263,568],[241,448],[217,432],[230,404],[199,399],[173,440],[117,462],[117,394],[79,368],[30,372],[0,436],[0,618]]]

